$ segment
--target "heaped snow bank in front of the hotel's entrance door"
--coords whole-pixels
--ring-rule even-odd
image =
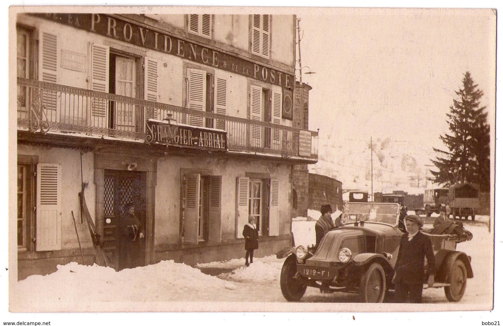
[[[55,273],[32,275],[19,281],[14,285],[16,298],[26,300],[23,302],[26,304],[39,301],[208,300],[214,292],[236,288],[232,282],[174,261],[119,272],[76,262],[57,268]],[[205,291],[200,291],[201,284]]]

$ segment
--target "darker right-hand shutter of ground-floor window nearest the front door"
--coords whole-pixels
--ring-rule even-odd
[[[210,181],[210,208],[209,208],[209,234],[208,240],[220,242],[222,238],[221,231],[221,210],[222,210],[222,176],[211,176]]]

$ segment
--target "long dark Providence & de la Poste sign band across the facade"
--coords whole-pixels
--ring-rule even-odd
[[[187,41],[160,30],[146,28],[105,14],[31,14],[61,24],[111,37],[147,49],[176,55],[215,68],[262,80],[285,88],[293,87],[295,77],[259,63]]]

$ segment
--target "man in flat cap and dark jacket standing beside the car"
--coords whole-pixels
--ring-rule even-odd
[[[422,227],[421,217],[405,216],[407,233],[404,233],[400,240],[393,277],[394,301],[397,303],[405,302],[407,294],[411,303],[421,303],[425,281],[425,258],[428,261],[428,287],[432,287],[435,281],[435,256],[432,241],[428,235],[420,232]]]

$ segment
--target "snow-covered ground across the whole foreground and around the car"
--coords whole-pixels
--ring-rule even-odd
[[[319,212],[318,212],[319,217]],[[313,216],[314,219],[314,216]],[[468,280],[459,303],[449,303],[443,289],[426,289],[421,310],[490,310],[492,307],[492,233],[488,216],[463,221],[474,234],[458,250],[472,256],[475,277]],[[314,220],[296,218],[296,245],[314,242]],[[428,225],[426,225],[428,227]],[[193,268],[173,261],[116,272],[101,266],[70,263],[46,276],[12,284],[10,309],[15,311],[383,311],[416,310],[411,305],[358,304],[354,294],[320,293],[308,288],[301,303],[288,303],[279,287],[283,259],[256,258],[212,262]],[[200,269],[225,269],[217,276]],[[188,303],[189,302],[189,303]],[[307,302],[311,302],[307,304]],[[314,303],[312,303],[314,302]],[[337,303],[334,305],[333,303]],[[430,304],[428,304],[430,303]],[[439,305],[440,304],[440,305]],[[477,323],[478,324],[478,323]]]

